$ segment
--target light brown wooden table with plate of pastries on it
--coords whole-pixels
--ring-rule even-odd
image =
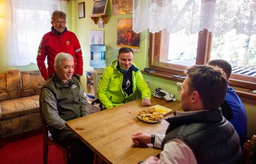
[[[179,101],[167,102],[153,97],[152,105],[157,104],[180,110]],[[164,134],[168,127],[164,119],[154,124],[141,122],[136,113],[143,108],[148,107],[142,107],[139,99],[68,121],[66,125],[106,163],[135,164],[148,156],[156,156],[161,150],[152,144],[134,147],[131,136],[137,132]],[[164,117],[170,116],[173,114]]]

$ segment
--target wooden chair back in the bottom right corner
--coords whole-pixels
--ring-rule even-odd
[[[253,135],[252,140],[247,140],[243,147],[242,164],[256,163],[256,135]]]

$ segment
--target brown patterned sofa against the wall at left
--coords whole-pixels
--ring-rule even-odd
[[[8,70],[0,73],[0,136],[8,137],[42,127],[40,71]]]

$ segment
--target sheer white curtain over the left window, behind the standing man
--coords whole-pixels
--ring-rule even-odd
[[[24,66],[36,64],[40,40],[51,31],[51,14],[66,12],[67,1],[4,0],[3,10],[8,65]]]

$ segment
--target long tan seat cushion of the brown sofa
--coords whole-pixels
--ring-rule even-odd
[[[39,95],[0,102],[1,120],[39,112]]]

